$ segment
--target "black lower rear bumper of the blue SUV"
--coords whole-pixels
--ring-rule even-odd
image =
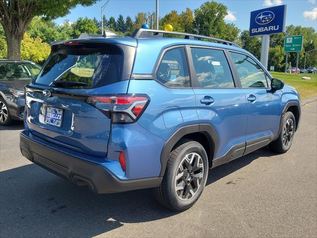
[[[20,150],[24,157],[46,170],[75,183],[88,185],[96,193],[113,193],[157,187],[162,177],[121,180],[104,166],[61,152],[20,133]]]

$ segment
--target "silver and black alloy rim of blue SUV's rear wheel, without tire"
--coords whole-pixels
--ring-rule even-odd
[[[175,192],[180,200],[193,197],[201,186],[204,176],[204,163],[197,153],[187,154],[179,164],[175,176]]]

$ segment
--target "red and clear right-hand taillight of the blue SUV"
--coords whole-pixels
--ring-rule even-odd
[[[150,100],[146,95],[92,96],[87,103],[99,109],[116,124],[137,121]]]

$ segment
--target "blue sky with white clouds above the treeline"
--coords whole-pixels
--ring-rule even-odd
[[[159,0],[159,16],[162,17],[171,10],[178,13],[186,10],[186,7],[194,10],[206,0]],[[84,7],[77,6],[70,10],[70,14],[57,18],[55,22],[61,24],[64,20],[74,22],[78,17],[101,18],[101,5],[106,0]],[[241,30],[249,29],[250,12],[265,7],[287,4],[286,25],[301,25],[314,27],[317,31],[317,0],[217,0],[228,7],[228,15],[225,17],[227,23],[234,23]],[[110,16],[124,17],[134,16],[137,12],[152,12],[156,10],[156,0],[110,0],[104,10],[108,19]]]

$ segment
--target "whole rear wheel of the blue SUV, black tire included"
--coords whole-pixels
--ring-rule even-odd
[[[192,207],[204,190],[208,170],[208,157],[204,147],[197,141],[180,141],[169,154],[162,183],[154,188],[157,200],[174,211],[184,211]],[[179,179],[176,179],[176,175],[180,176]],[[177,184],[182,185],[176,186]],[[177,190],[182,186],[183,190]]]

